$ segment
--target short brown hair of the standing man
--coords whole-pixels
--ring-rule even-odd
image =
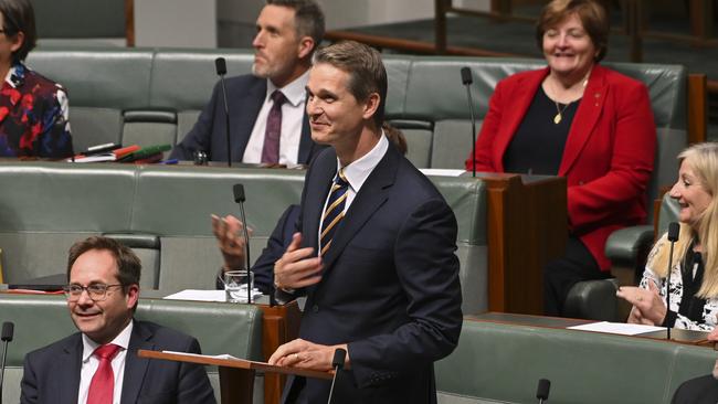
[[[360,102],[366,102],[371,93],[378,93],[379,107],[373,119],[377,128],[381,128],[387,104],[387,70],[376,49],[355,41],[341,41],[319,49],[314,63],[326,63],[349,73],[349,93]]]

